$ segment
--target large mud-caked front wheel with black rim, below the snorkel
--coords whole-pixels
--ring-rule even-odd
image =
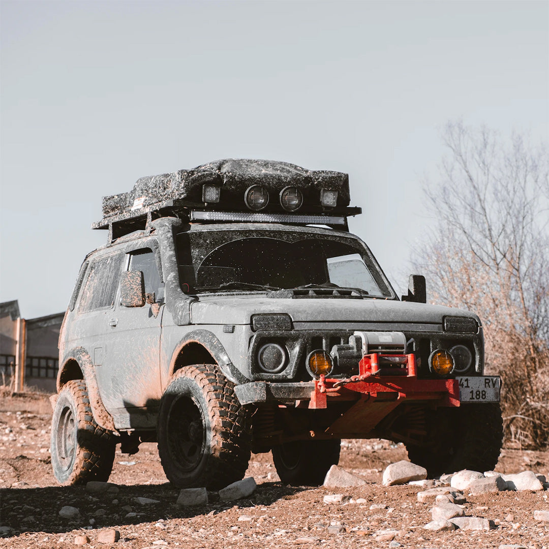
[[[177,488],[225,488],[244,477],[250,460],[248,413],[217,366],[185,366],[160,402],[158,453]]]

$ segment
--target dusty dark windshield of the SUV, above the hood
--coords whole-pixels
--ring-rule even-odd
[[[177,236],[182,290],[189,294],[302,287],[353,288],[394,296],[369,251],[352,237],[260,230],[191,231]]]

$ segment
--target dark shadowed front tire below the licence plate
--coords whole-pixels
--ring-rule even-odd
[[[429,478],[461,469],[494,469],[500,456],[503,421],[499,404],[466,404],[428,410],[427,439],[406,445],[410,461],[427,469]]]

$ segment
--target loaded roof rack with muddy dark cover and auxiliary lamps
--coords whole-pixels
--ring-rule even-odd
[[[93,229],[109,229],[109,240],[163,216],[188,222],[255,221],[328,225],[348,230],[349,176],[306,170],[272,160],[217,160],[191,170],[142,177],[127,193],[103,198],[103,219]]]

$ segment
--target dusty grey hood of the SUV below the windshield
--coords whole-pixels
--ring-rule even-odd
[[[249,324],[250,316],[288,313],[295,324],[309,322],[402,322],[441,324],[444,316],[470,311],[407,301],[383,299],[270,299],[266,296],[205,296],[192,304],[193,324]],[[299,328],[299,326],[296,326]]]

